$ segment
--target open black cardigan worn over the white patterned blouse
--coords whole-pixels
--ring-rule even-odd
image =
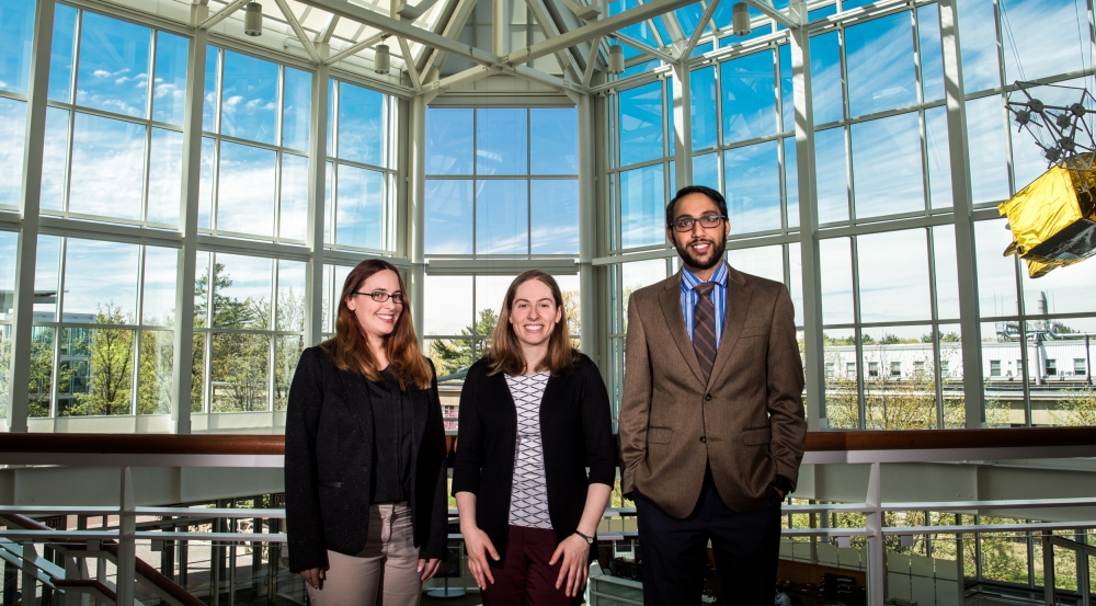
[[[476,524],[506,558],[510,499],[517,447],[517,408],[500,373],[488,376],[483,361],[468,369],[460,392],[453,494],[476,495]],[[582,355],[575,369],[550,377],[540,403],[540,436],[548,492],[548,516],[557,541],[574,534],[591,483],[613,485],[617,448],[609,398],[593,361]],[[586,476],[586,468],[590,474]],[[591,550],[595,556],[596,550]],[[490,559],[489,559],[490,561]]]

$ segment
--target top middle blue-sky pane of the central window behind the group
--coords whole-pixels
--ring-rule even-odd
[[[476,110],[476,174],[528,174],[526,110]]]

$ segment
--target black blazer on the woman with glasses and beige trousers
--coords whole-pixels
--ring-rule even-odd
[[[433,364],[431,364],[433,370]],[[447,507],[445,428],[431,388],[408,388],[414,411],[411,526],[422,558],[442,558]],[[328,563],[327,550],[353,556],[368,536],[373,466],[369,386],[361,373],[340,370],[320,347],[300,355],[289,387],[285,425],[285,515],[289,570]]]

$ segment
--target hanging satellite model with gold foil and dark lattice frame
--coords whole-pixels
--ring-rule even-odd
[[[1096,100],[1084,89],[1039,87],[1054,98],[1075,100],[1050,104],[1031,96],[1031,84],[1017,85],[1008,111],[1017,132],[1035,137],[1050,168],[997,208],[1013,231],[1005,256],[1019,255],[1036,278],[1096,253],[1096,142],[1085,119],[1096,113]]]

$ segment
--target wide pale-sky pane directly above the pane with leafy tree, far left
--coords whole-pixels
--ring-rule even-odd
[[[137,244],[69,238],[62,321],[135,323],[139,255]]]

